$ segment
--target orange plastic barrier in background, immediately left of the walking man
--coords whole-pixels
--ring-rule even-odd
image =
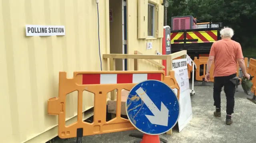
[[[202,81],[203,78],[205,78],[207,62],[208,62],[208,57],[199,57],[199,59],[197,59],[197,57],[195,57],[194,63],[196,64],[196,67],[197,67],[196,68],[196,80]],[[200,65],[204,65],[203,75],[200,75]],[[214,70],[214,63],[212,63],[212,66],[211,66],[211,69],[210,69],[209,82],[214,81],[213,70]]]

